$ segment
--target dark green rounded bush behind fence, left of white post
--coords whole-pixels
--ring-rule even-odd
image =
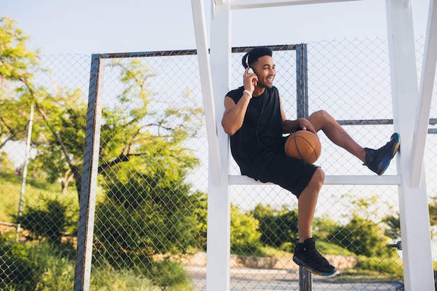
[[[135,262],[154,253],[205,249],[206,195],[190,192],[183,167],[170,176],[165,167],[138,169],[108,183],[107,199],[96,207],[99,251],[108,259]]]

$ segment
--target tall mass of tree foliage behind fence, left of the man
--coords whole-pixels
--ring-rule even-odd
[[[201,126],[200,108],[149,110],[154,95],[147,82],[154,73],[136,60],[112,66],[126,89],[103,111],[98,171],[106,200],[96,210],[99,250],[128,262],[205,249],[206,198],[186,182],[199,161],[184,147]]]

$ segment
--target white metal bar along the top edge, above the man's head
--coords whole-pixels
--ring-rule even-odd
[[[248,9],[248,8],[263,8],[276,6],[292,6],[303,4],[320,4],[332,2],[346,2],[360,0],[232,0],[230,8],[232,10]]]

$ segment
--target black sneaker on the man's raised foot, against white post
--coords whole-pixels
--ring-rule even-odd
[[[376,174],[383,174],[385,170],[387,170],[388,165],[390,165],[390,161],[396,154],[399,149],[399,142],[401,140],[401,136],[399,133],[393,133],[392,137],[390,137],[390,142],[387,142],[384,147],[380,147],[379,149],[369,149],[365,147],[366,150],[366,165],[370,170],[376,172]]]

